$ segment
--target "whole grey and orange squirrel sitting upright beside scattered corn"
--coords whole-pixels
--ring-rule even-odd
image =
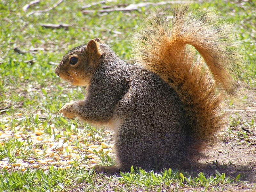
[[[118,164],[96,165],[95,172],[196,165],[227,124],[222,100],[237,95],[241,62],[230,26],[211,12],[192,15],[187,5],[173,13],[172,20],[154,15],[137,32],[134,64],[95,38],[69,51],[55,70],[87,86],[85,100],[59,113],[115,131]]]

